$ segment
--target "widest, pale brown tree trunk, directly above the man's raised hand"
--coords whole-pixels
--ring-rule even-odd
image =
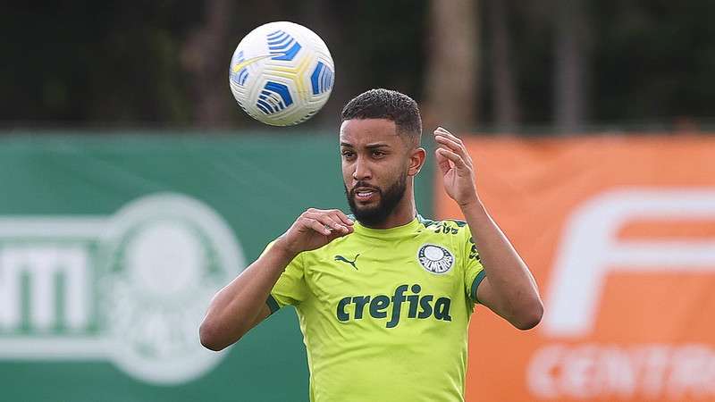
[[[476,0],[432,0],[428,52],[425,131],[442,125],[471,130],[477,111],[479,63]]]

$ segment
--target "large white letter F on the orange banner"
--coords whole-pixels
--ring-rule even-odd
[[[604,280],[615,269],[715,270],[715,239],[618,240],[618,230],[635,219],[715,219],[715,190],[627,189],[587,201],[561,237],[540,327],[544,332],[562,337],[589,333]]]

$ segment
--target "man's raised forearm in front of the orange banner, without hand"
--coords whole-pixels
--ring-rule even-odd
[[[536,281],[509,239],[478,198],[462,206],[462,212],[472,230],[488,281],[489,289],[480,292],[485,300],[480,297],[480,301],[517,328],[528,327],[534,320],[538,322],[543,306]]]

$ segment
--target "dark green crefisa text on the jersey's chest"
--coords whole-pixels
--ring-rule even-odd
[[[411,295],[405,295],[411,290]],[[349,320],[361,320],[367,312],[371,317],[377,319],[387,318],[390,310],[390,321],[385,323],[386,328],[394,328],[400,322],[400,312],[402,305],[408,304],[408,318],[429,318],[437,320],[452,321],[450,316],[450,297],[439,297],[434,300],[434,295],[420,295],[422,290],[418,284],[400,285],[395,289],[392,297],[387,295],[370,296],[348,296],[343,297],[338,302],[336,315],[341,322]]]

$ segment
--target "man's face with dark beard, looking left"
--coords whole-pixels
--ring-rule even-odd
[[[368,226],[400,204],[408,177],[408,143],[394,121],[353,119],[341,125],[342,179],[350,210]]]

